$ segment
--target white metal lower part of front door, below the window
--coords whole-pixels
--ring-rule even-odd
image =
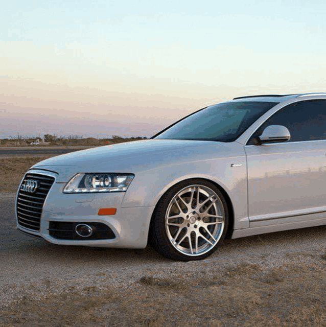
[[[324,206],[326,141],[246,146],[250,226]],[[272,218],[273,217],[273,218]]]

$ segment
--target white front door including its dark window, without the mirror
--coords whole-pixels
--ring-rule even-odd
[[[291,138],[264,145],[253,145],[249,139],[245,146],[250,227],[324,215],[326,101],[301,101],[280,109],[255,134],[269,125],[286,126]]]

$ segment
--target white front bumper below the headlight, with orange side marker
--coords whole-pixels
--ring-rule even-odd
[[[36,173],[49,174],[40,170]],[[51,186],[43,203],[39,230],[32,230],[21,225],[16,213],[17,229],[60,245],[146,247],[153,206],[122,207],[125,192],[64,194],[62,192],[64,185],[65,183],[54,182]],[[99,215],[99,210],[102,208],[115,208],[117,211],[114,215]],[[74,229],[73,234],[77,224],[103,224],[112,231],[112,236],[106,239],[87,239],[78,237],[75,232],[76,235],[73,235],[71,239],[61,239],[51,231],[51,226],[58,224],[71,225]]]

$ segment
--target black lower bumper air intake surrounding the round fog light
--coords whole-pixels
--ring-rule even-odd
[[[87,224],[93,229],[90,237],[79,236],[75,228],[78,224]],[[49,235],[58,240],[112,240],[115,235],[112,229],[103,223],[98,222],[65,222],[65,221],[50,221]]]

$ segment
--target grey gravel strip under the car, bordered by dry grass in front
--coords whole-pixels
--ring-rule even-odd
[[[173,276],[191,283],[241,263],[257,264],[263,269],[285,264],[326,268],[326,226],[227,240],[208,259],[181,263],[161,258],[150,247],[64,247],[25,236],[15,229],[14,196],[0,194],[0,306],[26,295],[37,299],[72,288],[128,289],[144,276]]]

